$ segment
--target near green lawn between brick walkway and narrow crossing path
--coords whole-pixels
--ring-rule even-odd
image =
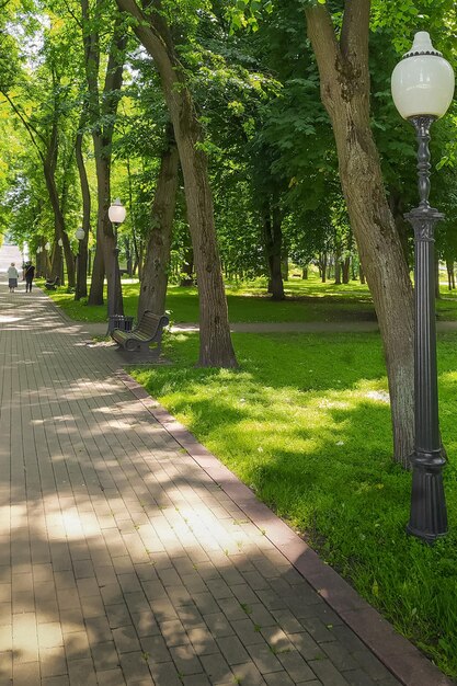
[[[411,477],[391,461],[377,334],[235,334],[237,371],[193,367],[198,340],[170,335],[173,366],[134,376],[259,498],[306,533],[409,639],[457,675],[457,335],[439,339],[449,535],[408,537]]]

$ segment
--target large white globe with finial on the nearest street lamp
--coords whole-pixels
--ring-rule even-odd
[[[426,31],[414,36],[409,53],[392,72],[395,105],[404,119],[429,115],[442,117],[454,96],[454,71],[432,45]]]

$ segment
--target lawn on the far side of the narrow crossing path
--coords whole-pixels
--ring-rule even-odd
[[[41,282],[38,282],[39,285]],[[227,286],[227,301],[231,322],[312,322],[312,321],[375,321],[375,310],[367,286],[358,282],[335,286],[322,284],[316,275],[308,281],[290,279],[285,283],[287,299],[273,302],[261,279],[252,284]],[[123,281],[124,313],[136,316],[139,285],[136,279]],[[48,291],[50,297],[79,321],[106,321],[106,305],[88,306],[77,302],[66,288]],[[457,295],[443,286],[443,297],[436,305],[439,320],[457,320]],[[198,321],[198,294],[196,288],[170,286],[167,310],[172,322]]]

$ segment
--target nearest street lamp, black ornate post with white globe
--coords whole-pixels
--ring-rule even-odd
[[[427,542],[447,533],[443,454],[438,422],[436,370],[434,229],[444,215],[431,207],[430,128],[448,108],[454,94],[454,72],[435,50],[430,35],[414,36],[409,53],[392,73],[397,110],[411,122],[418,136],[419,207],[405,216],[414,229],[414,450],[411,512],[407,531]]]

